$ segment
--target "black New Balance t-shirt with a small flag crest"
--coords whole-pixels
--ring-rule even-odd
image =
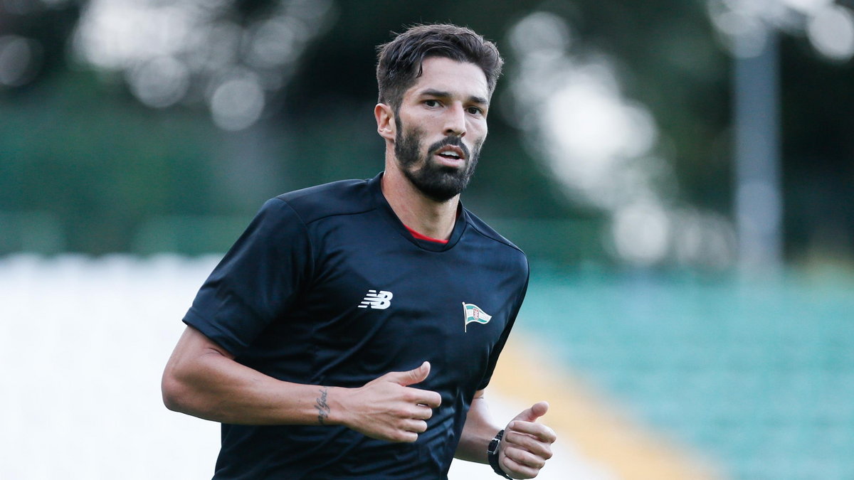
[[[528,285],[512,243],[465,208],[446,244],[412,237],[380,180],[266,202],[184,317],[236,360],[281,380],[360,387],[424,360],[442,395],[414,443],[341,425],[222,425],[217,479],[445,478]],[[487,467],[488,468],[488,467]]]

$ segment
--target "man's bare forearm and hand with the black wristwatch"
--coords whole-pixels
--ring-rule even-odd
[[[505,427],[498,447],[498,464],[509,477],[536,477],[546,465],[546,460],[552,457],[552,443],[557,436],[554,430],[536,422],[547,410],[545,401],[535,403]],[[454,456],[460,460],[488,464],[487,448],[499,430],[500,427],[489,416],[484,390],[477,390]]]

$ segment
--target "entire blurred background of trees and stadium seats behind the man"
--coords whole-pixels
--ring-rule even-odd
[[[463,200],[573,386],[550,474],[854,478],[848,0],[0,0],[0,477],[209,476],[179,319],[267,198],[382,169],[375,46],[442,21],[506,59]]]

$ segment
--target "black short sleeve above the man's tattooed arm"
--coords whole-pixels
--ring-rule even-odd
[[[286,317],[312,267],[306,225],[287,202],[269,200],[202,284],[184,323],[239,356]]]

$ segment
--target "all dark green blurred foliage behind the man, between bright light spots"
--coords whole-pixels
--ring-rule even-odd
[[[574,41],[616,62],[626,95],[650,108],[658,123],[657,149],[674,164],[681,199],[729,214],[731,61],[699,0],[338,1],[328,31],[268,98],[260,123],[242,132],[219,130],[201,104],[147,108],[119,75],[73,64],[69,42],[85,1],[17,10],[12,4],[26,3],[0,2],[0,35],[37,40],[43,58],[27,85],[0,86],[0,213],[7,214],[0,221],[42,215],[56,220],[62,238],[28,243],[13,226],[24,224],[9,220],[0,225],[0,254],[225,249],[266,198],[382,169],[371,113],[374,47],[389,41],[390,32],[421,22],[471,26],[499,44],[509,71],[514,59],[506,32],[535,9],[560,15]],[[272,0],[233,4],[240,18],[251,18]],[[785,38],[781,62],[787,252],[794,259],[814,249],[850,256],[851,64],[819,59],[803,38]],[[495,109],[505,91],[500,83]],[[553,260],[607,260],[603,214],[570,202],[501,114],[490,115],[483,161],[464,200],[518,232],[508,237],[530,237],[528,245],[518,242],[523,248]],[[191,221],[208,217],[221,221]],[[177,225],[187,222],[199,225],[196,237],[204,242],[164,239],[182,237]],[[571,232],[553,239],[554,249],[536,241],[536,229],[555,225],[548,222],[564,222],[556,231]]]

